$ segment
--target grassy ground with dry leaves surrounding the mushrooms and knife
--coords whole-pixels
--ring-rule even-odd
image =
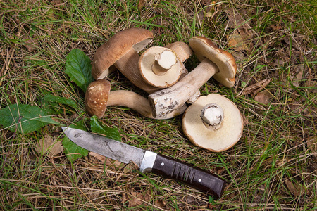
[[[149,120],[116,107],[102,122],[118,128],[125,142],[227,179],[223,198],[213,201],[176,181],[140,176],[132,165],[104,164],[91,155],[69,162],[64,153],[37,153],[35,143],[45,134],[61,139],[61,130],[49,125],[32,134],[0,129],[0,209],[316,210],[317,148],[309,144],[317,128],[316,3],[153,0],[138,9],[135,2],[1,1],[0,106],[41,106],[46,94],[63,96],[78,107],[59,105],[55,117],[71,124],[88,117],[85,94],[64,74],[71,49],[92,58],[128,27],[152,30],[151,45],[159,46],[210,37],[235,56],[237,83],[228,89],[211,79],[201,93],[230,98],[244,115],[236,146],[223,153],[193,146],[182,134],[181,117]],[[189,70],[195,65],[194,57],[186,63]],[[144,94],[118,72],[109,78],[113,89]],[[271,82],[262,98],[245,94],[263,79]]]

